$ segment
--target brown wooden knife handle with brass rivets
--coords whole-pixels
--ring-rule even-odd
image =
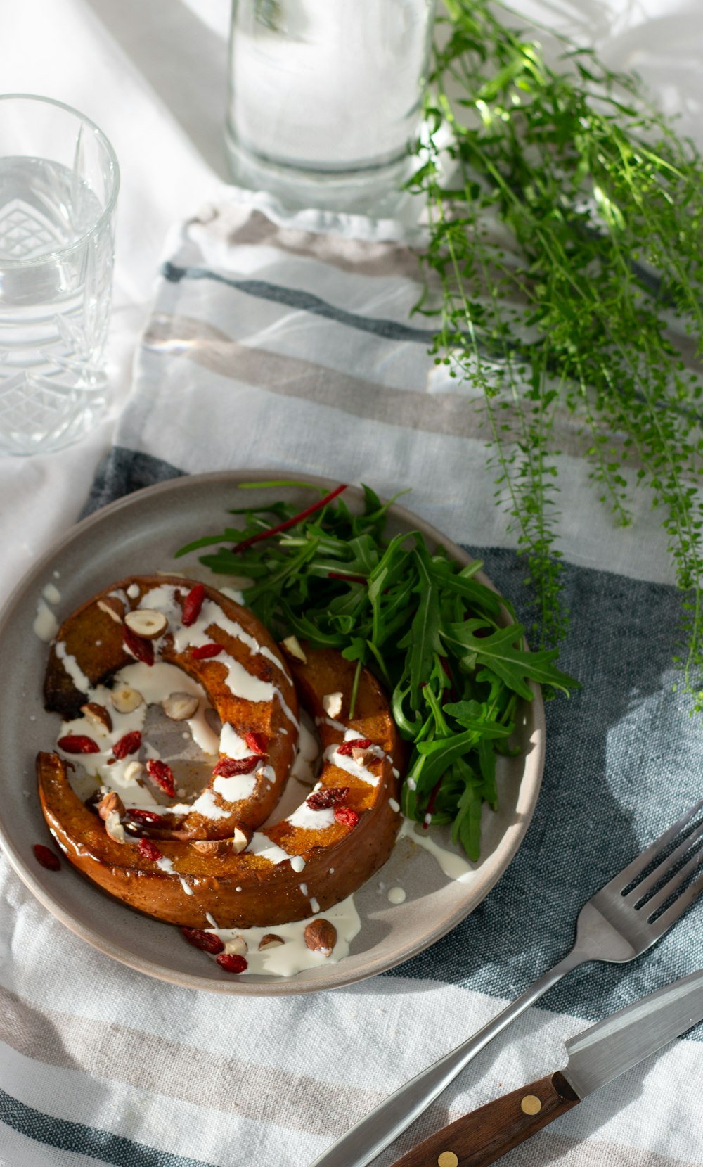
[[[557,1070],[444,1126],[394,1167],[484,1167],[581,1102]]]

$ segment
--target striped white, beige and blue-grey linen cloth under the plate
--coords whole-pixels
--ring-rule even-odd
[[[134,389],[87,509],[178,475],[280,466],[368,482],[472,554],[526,610],[480,408],[428,355],[413,239],[232,193],[174,240]],[[547,707],[534,820],[481,906],[385,976],[324,994],[222,998],[152,980],[50,916],[5,860],[0,1161],[8,1167],[304,1167],[570,946],[578,908],[701,794],[703,741],[673,692],[680,596],[644,491],[617,530],[560,420],[561,545],[583,682]],[[703,904],[646,957],[572,973],[379,1160],[563,1064],[563,1040],[694,971]],[[703,1028],[506,1162],[702,1167]]]

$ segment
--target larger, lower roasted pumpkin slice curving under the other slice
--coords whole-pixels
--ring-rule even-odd
[[[111,589],[112,599],[117,592],[121,601],[120,593],[127,595],[136,584],[140,591],[139,598],[134,592],[134,599],[139,603],[146,598],[146,605],[154,609],[154,587],[149,586],[153,582],[139,580],[128,582],[127,588],[118,586]],[[159,580],[157,586],[185,592],[189,584]],[[226,598],[212,594],[224,609],[223,599]],[[235,605],[233,608],[241,623],[244,609]],[[119,631],[113,616],[105,615]],[[253,620],[251,613],[244,615]],[[171,617],[175,627],[177,619],[173,610]],[[105,677],[105,669],[100,671],[105,657],[101,651],[93,657],[89,652],[87,661],[75,655],[85,648],[85,642],[80,643],[76,629],[71,628],[72,619],[59,630],[57,648],[61,644],[65,648],[58,648],[55,655],[64,662],[66,655],[73,656],[80,662],[82,671],[93,683],[99,682]],[[79,628],[82,624],[83,621]],[[103,631],[107,630],[107,626],[103,626]],[[209,627],[213,642],[220,642],[219,631],[217,627]],[[169,659],[175,662],[176,654],[183,650],[178,647],[177,633],[171,635],[173,648],[164,635],[161,658],[167,659],[168,652],[173,654]],[[260,628],[255,638],[265,643]],[[103,645],[99,648],[101,650]],[[194,811],[185,815],[180,827],[171,820],[176,816],[169,818],[167,815],[166,826],[163,823],[156,827],[147,824],[140,830],[142,838],[122,832],[124,841],[119,841],[115,832],[107,833],[101,819],[71,788],[64,757],[58,753],[40,754],[37,777],[44,817],[71,862],[131,907],[170,923],[195,928],[213,922],[223,928],[248,928],[301,920],[326,910],[356,890],[385,862],[393,847],[400,823],[395,796],[402,746],[386,694],[371,673],[361,672],[356,713],[350,720],[354,665],[333,650],[304,647],[304,654],[305,662],[289,658],[288,665],[301,699],[318,724],[324,755],[317,785],[297,810],[261,831],[252,831],[258,824],[251,822],[251,816],[248,822],[241,817],[237,826],[245,826],[246,838],[240,838],[234,846],[230,839],[237,833],[237,826],[230,819],[230,834],[225,836],[219,820],[213,832],[212,822],[205,818],[201,826]],[[114,651],[114,661],[111,658],[110,664],[112,673],[120,668],[121,659]],[[191,658],[187,657],[187,663],[190,666]],[[217,659],[206,664],[208,673],[203,676],[198,666],[197,677],[222,717],[222,704],[218,705],[217,694],[212,692],[212,678],[218,676],[215,672]],[[73,666],[69,663],[69,668]],[[92,673],[87,672],[90,668]],[[56,691],[56,671],[52,656],[48,696]],[[61,686],[61,693],[63,707],[72,712],[78,697],[65,685]],[[85,693],[78,696],[84,703]],[[283,700],[290,713],[295,694],[290,692]],[[268,715],[274,717],[279,706],[283,708],[279,699],[274,700]],[[225,708],[225,714],[227,712]],[[295,740],[289,724],[280,728],[283,743]],[[265,732],[270,732],[270,721],[266,722]],[[273,736],[269,743],[273,757]],[[246,850],[238,851],[244,843]]]

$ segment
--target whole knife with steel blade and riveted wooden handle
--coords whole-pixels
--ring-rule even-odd
[[[702,1020],[698,969],[570,1037],[563,1070],[464,1114],[394,1167],[486,1167]]]

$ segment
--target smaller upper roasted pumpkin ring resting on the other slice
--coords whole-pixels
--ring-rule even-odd
[[[152,638],[140,635],[142,624],[154,626],[156,617],[159,635],[153,636],[153,627]],[[196,684],[189,685],[188,678]],[[70,761],[73,752],[82,753],[82,743],[69,741],[69,748],[61,749],[62,742],[85,738],[83,748],[96,756],[84,761],[115,787],[139,753],[140,741],[134,747],[135,739],[128,739],[140,735],[147,705],[184,687],[202,698],[191,729],[199,729],[201,743],[220,759],[185,817],[181,808],[180,813],[170,812],[168,797],[167,805],[155,808],[166,816],[167,833],[217,839],[231,837],[240,825],[256,827],[274,810],[295,756],[297,697],[260,621],[203,584],[178,576],[122,580],[61,626],[49,656],[44,701],[48,710],[76,720],[65,726],[59,755]],[[119,700],[134,692],[136,707]],[[206,704],[222,722],[219,741],[204,719]],[[97,720],[105,722],[105,714],[110,728]],[[168,775],[160,776],[154,761],[147,760],[154,778],[148,784],[168,794]],[[129,782],[120,794],[129,795],[129,788],[139,792]]]

